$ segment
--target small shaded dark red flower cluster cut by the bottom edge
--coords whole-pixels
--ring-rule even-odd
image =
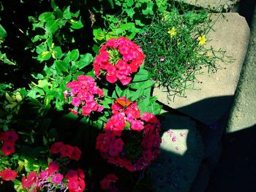
[[[116,177],[116,174],[110,173],[107,174],[106,177],[104,177],[100,182],[100,188],[102,190],[108,190],[110,192],[118,192],[118,189],[115,186],[116,181],[118,178]]]

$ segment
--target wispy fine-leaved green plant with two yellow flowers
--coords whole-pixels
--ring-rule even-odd
[[[170,94],[184,96],[203,67],[216,72],[217,61],[228,58],[224,50],[206,46],[213,23],[206,10],[184,12],[174,7],[155,15],[151,25],[135,38],[146,55],[145,68]]]

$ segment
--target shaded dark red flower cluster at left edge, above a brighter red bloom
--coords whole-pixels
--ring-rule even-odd
[[[15,153],[15,141],[18,138],[18,134],[13,130],[0,133],[0,141],[4,142],[1,147],[1,151],[4,155]]]

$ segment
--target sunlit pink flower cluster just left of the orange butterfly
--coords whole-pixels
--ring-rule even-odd
[[[69,110],[75,115],[78,115],[80,107],[82,115],[90,115],[92,111],[101,112],[103,110],[103,107],[98,105],[97,99],[104,93],[102,89],[96,86],[93,77],[78,75],[78,81],[68,82],[66,87],[70,88],[70,93],[64,91],[64,96],[65,99],[67,96],[72,96],[71,104],[74,108]]]

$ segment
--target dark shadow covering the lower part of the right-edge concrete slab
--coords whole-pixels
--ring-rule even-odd
[[[207,192],[256,189],[256,125],[223,136],[222,156]]]

